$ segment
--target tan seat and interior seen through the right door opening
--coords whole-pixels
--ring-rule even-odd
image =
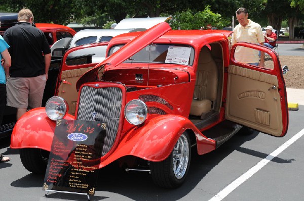
[[[203,46],[199,55],[194,99],[190,115],[206,119],[219,112],[222,91],[223,58],[219,43]],[[191,117],[190,117],[191,118]]]

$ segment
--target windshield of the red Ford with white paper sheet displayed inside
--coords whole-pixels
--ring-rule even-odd
[[[113,46],[109,55],[118,51],[123,45]],[[193,65],[194,48],[173,44],[150,44],[123,63],[164,63]]]

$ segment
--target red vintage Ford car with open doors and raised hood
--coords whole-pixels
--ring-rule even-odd
[[[149,171],[168,188],[184,182],[192,147],[209,153],[242,126],[286,134],[285,82],[275,52],[244,42],[230,50],[230,31],[170,29],[163,22],[116,36],[97,65],[67,65],[71,52],[87,46],[69,49],[57,83],[60,97],[27,112],[13,130],[11,148],[20,149],[24,167],[45,172],[57,119],[105,121],[98,167],[119,162],[126,170]],[[240,46],[269,54],[271,65],[236,61]]]

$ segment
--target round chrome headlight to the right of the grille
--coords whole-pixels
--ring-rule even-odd
[[[142,124],[148,115],[148,109],[144,102],[141,100],[131,100],[125,107],[126,120],[133,125]]]

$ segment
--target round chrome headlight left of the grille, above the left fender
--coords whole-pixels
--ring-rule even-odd
[[[62,119],[68,111],[68,105],[62,97],[53,96],[46,103],[46,113],[51,120]]]

